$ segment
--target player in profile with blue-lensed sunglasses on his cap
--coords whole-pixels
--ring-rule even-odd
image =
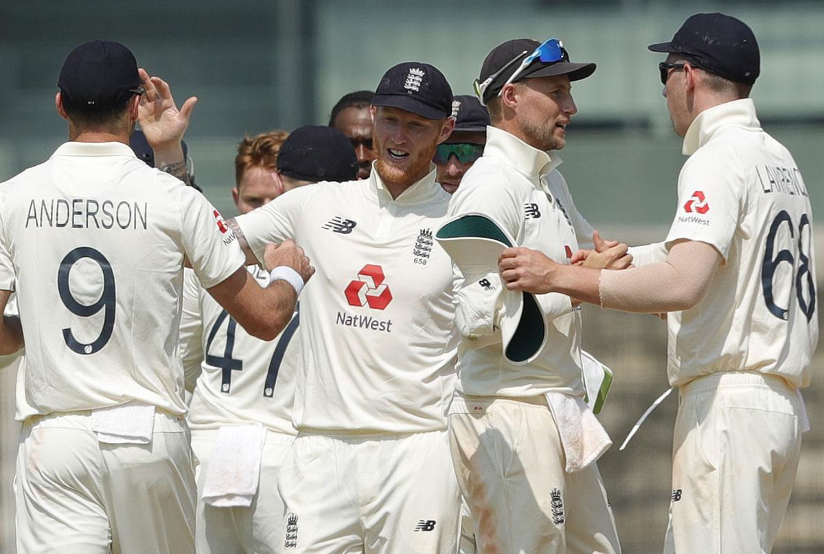
[[[477,83],[492,120],[484,155],[466,171],[438,230],[459,272],[449,430],[479,552],[620,552],[595,463],[611,443],[583,401],[578,302],[531,299],[516,332],[529,337],[520,342],[507,324],[520,296],[503,288],[497,255],[471,250],[472,241],[497,236],[568,263],[578,240],[593,234],[555,151],[577,113],[570,83],[594,71],[594,63],[571,63],[555,39],[509,40],[487,55]],[[450,246],[452,239],[462,245]],[[592,255],[625,267],[625,254],[624,244],[611,244]]]

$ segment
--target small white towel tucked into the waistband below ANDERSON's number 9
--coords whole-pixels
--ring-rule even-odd
[[[91,411],[91,430],[110,445],[147,445],[152,442],[154,411],[151,404],[129,402]]]

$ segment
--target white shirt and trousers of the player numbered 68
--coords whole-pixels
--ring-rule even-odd
[[[667,246],[712,244],[723,263],[703,300],[667,319],[681,404],[666,552],[770,552],[818,339],[812,210],[793,156],[750,99],[702,112],[683,151]]]

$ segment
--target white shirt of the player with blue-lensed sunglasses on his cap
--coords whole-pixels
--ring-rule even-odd
[[[487,127],[484,155],[466,171],[452,197],[449,216],[489,216],[517,246],[569,263],[578,250],[578,237],[591,241],[592,226],[575,207],[556,169],[560,162],[555,153],[550,156],[506,131]],[[461,340],[456,389],[475,396],[528,397],[550,391],[583,396],[581,315],[569,296],[535,296],[544,313],[547,340],[534,361],[516,365],[504,358],[500,329],[492,327],[503,291],[498,268],[486,271],[483,278],[462,285],[459,303],[464,304],[458,310],[488,321],[491,335],[480,347],[477,339]]]

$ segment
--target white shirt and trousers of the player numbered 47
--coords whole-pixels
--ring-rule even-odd
[[[257,266],[248,270],[260,286],[269,285],[269,272]],[[180,354],[187,379],[199,373],[186,417],[199,462],[198,554],[265,554],[279,552],[277,547],[283,543],[283,502],[277,480],[283,457],[297,435],[292,426],[297,324],[295,314],[274,341],[252,337],[205,291],[193,272],[185,272]],[[207,475],[227,471],[209,466],[213,449],[233,446],[216,442],[219,430],[261,424],[263,444],[260,440],[256,444],[260,460],[251,468],[260,474],[255,495],[229,506],[204,502],[204,492],[209,492]]]

